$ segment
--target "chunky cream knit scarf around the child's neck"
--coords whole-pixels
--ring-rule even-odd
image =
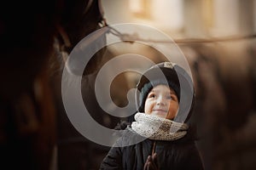
[[[145,113],[138,112],[134,117],[136,122],[131,123],[131,129],[148,139],[166,141],[181,139],[189,128],[185,123],[173,122]]]

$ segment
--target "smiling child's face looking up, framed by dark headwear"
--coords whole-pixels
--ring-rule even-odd
[[[172,120],[177,114],[177,109],[178,99],[172,88],[158,85],[148,93],[144,108],[146,114]]]

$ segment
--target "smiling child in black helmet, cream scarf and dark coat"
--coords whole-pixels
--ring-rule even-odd
[[[193,83],[186,71],[171,62],[154,65],[143,74],[137,90],[135,122],[117,141],[123,147],[112,147],[101,169],[203,169],[195,131],[186,123],[194,104]],[[144,140],[127,142],[137,136]]]

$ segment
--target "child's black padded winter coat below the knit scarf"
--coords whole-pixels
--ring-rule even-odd
[[[128,141],[139,138],[138,136],[137,133],[127,130],[125,135],[118,140],[117,144],[127,144]],[[204,169],[191,130],[182,139],[175,141],[145,139],[138,144],[125,147],[112,147],[102,161],[100,169],[143,170],[148,156],[152,153],[154,142],[160,169]]]

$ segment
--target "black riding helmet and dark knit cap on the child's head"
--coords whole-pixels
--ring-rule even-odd
[[[179,110],[174,121],[187,122],[194,107],[194,86],[187,71],[172,62],[154,65],[143,73],[137,83],[137,90],[139,91],[137,93],[138,111],[144,112],[144,104],[148,93],[160,84],[169,86],[177,94]]]

